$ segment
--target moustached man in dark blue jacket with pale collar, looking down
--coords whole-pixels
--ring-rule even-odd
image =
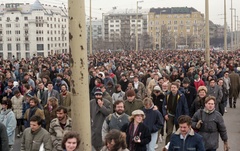
[[[191,150],[205,151],[203,138],[191,128],[192,119],[188,115],[181,115],[178,118],[179,129],[172,134],[168,150],[187,151]]]

